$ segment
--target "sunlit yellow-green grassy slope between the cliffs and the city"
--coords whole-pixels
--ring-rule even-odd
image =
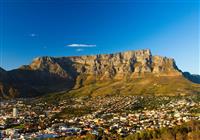
[[[106,95],[189,95],[200,93],[200,85],[186,80],[182,76],[155,77],[146,76],[129,80],[109,80],[85,84],[68,92],[46,95],[48,99],[67,97],[93,97]],[[47,99],[47,100],[48,100]]]

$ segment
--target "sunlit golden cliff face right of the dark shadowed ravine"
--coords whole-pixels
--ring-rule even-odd
[[[99,79],[123,79],[127,76],[181,75],[173,59],[152,56],[150,50],[127,51],[109,55],[69,58],[78,74],[88,74]]]

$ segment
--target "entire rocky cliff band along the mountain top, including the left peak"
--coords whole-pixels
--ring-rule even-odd
[[[87,74],[100,80],[121,79],[127,75],[145,73],[181,75],[173,59],[152,56],[150,50],[80,57],[42,57],[36,58],[27,67],[31,70],[48,71],[64,78],[75,78],[74,76]]]

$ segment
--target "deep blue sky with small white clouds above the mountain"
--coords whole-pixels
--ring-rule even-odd
[[[149,48],[200,74],[198,0],[0,0],[0,67]]]

